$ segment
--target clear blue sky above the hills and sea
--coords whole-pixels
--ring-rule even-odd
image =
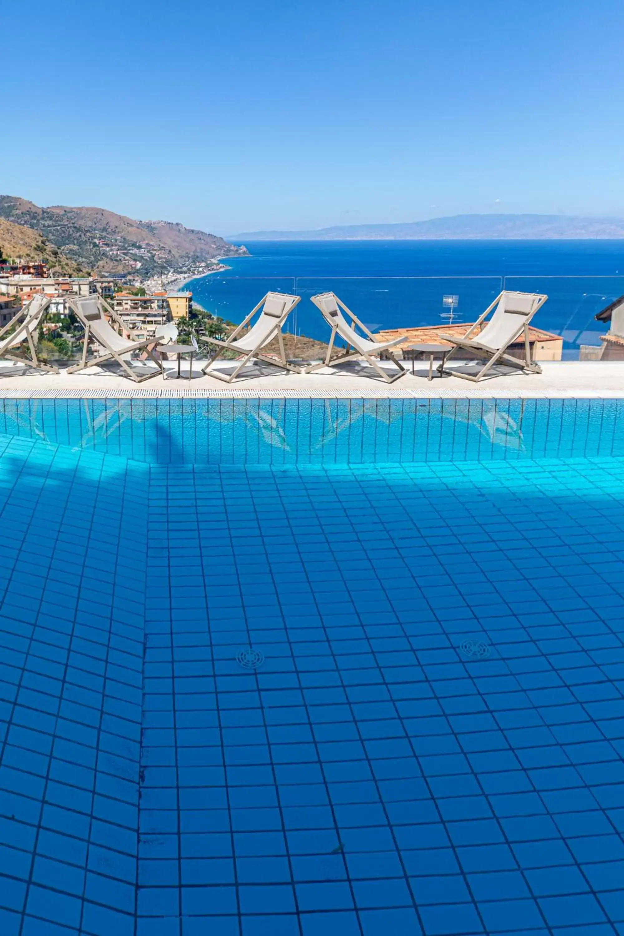
[[[30,0],[0,192],[220,234],[624,215],[622,0]]]

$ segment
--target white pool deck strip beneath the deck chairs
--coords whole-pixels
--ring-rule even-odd
[[[203,363],[203,362],[202,362]],[[547,361],[543,373],[512,371],[478,384],[452,376],[427,380],[427,368],[416,363],[416,373],[386,384],[368,367],[348,367],[310,374],[284,374],[273,368],[249,367],[244,379],[225,384],[200,372],[196,364],[188,380],[188,365],[175,377],[176,365],[168,365],[169,376],[154,376],[140,384],[121,373],[91,368],[83,373],[17,373],[0,363],[0,397],[26,398],[117,398],[117,397],[263,397],[263,398],[351,398],[351,399],[562,399],[624,398],[624,361]]]

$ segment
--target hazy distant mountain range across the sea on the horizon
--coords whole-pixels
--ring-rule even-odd
[[[247,231],[226,241],[557,241],[624,238],[624,219],[566,214],[455,214],[394,225],[346,225],[312,231]]]

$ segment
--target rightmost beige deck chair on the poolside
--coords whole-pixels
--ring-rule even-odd
[[[490,367],[499,363],[520,368],[521,371],[542,373],[540,365],[530,359],[529,323],[533,315],[544,305],[547,299],[547,296],[541,296],[538,293],[517,293],[503,290],[491,305],[487,306],[484,314],[468,329],[463,338],[452,338],[448,334],[439,333],[439,338],[442,338],[444,342],[450,342],[454,347],[446,355],[446,359],[440,365],[438,371],[440,373],[452,373],[455,377],[464,377],[466,380],[473,381],[482,380]],[[494,309],[494,314],[484,326],[483,323],[492,309]],[[513,344],[523,331],[524,358],[514,358],[512,355],[506,354],[509,345]],[[489,359],[477,374],[451,371],[446,365],[457,351],[473,351],[476,358],[486,356]]]

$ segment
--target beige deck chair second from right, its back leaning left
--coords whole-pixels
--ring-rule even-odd
[[[312,302],[317,309],[320,309],[327,325],[331,328],[331,338],[329,339],[325,360],[320,364],[312,364],[310,367],[306,367],[304,373],[312,373],[312,371],[318,371],[323,367],[334,367],[335,364],[341,364],[343,361],[351,360],[352,358],[365,358],[367,363],[370,364],[370,367],[374,368],[388,384],[393,384],[395,380],[399,380],[399,377],[407,373],[401,362],[395,358],[389,350],[391,347],[394,347],[395,344],[405,341],[404,338],[393,338],[391,342],[376,342],[372,332],[367,329],[366,325],[360,322],[355,313],[347,309],[344,302],[341,302],[334,293],[320,293],[318,296],[312,296]],[[349,325],[341,310],[351,317],[351,325]],[[369,338],[363,338],[361,335],[358,335],[356,326],[359,326],[360,329],[365,331]],[[340,358],[331,360],[331,351],[336,340],[336,335],[347,343],[347,353],[341,355]],[[350,347],[354,350],[349,351]],[[399,373],[387,373],[375,358],[373,358],[373,355],[378,355],[382,351],[385,351],[388,358],[396,364],[399,368]]]

